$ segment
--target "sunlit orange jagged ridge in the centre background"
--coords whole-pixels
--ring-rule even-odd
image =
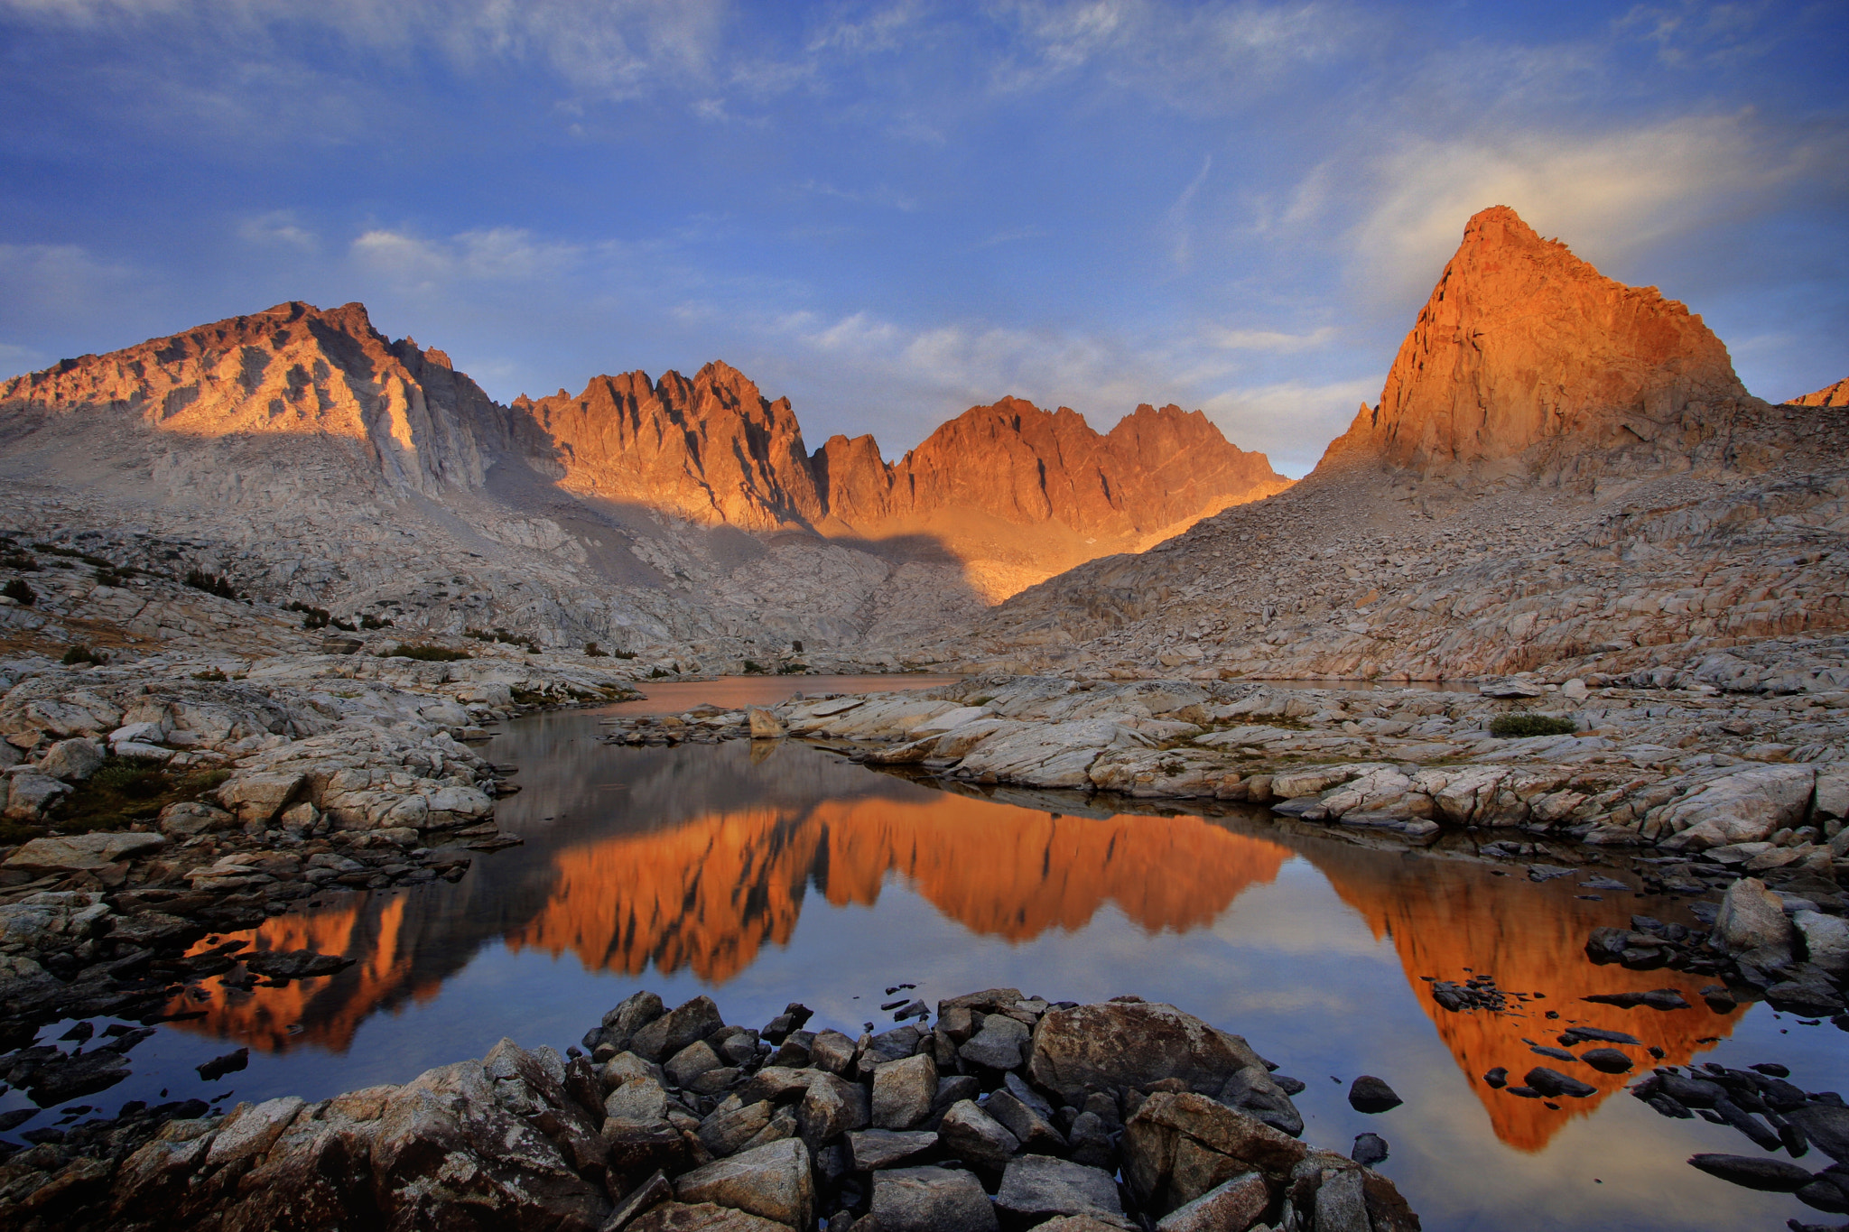
[[[987,562],[973,584],[989,598],[1291,486],[1265,454],[1180,406],[1139,406],[1100,434],[1071,408],[1004,397],[899,462],[873,436],[804,453],[790,399],[717,362],[692,380],[595,377],[577,397],[520,397],[512,410],[534,465],[579,495]]]

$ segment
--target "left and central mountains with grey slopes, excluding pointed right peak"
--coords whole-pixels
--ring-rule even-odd
[[[1100,436],[1004,399],[897,464],[871,436],[810,453],[788,399],[717,362],[503,406],[364,307],[303,303],[0,384],[0,475],[18,536],[148,576],[719,670],[793,643],[878,661],[1289,486],[1176,406]]]

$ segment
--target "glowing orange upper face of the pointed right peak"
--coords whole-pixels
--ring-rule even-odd
[[[1655,286],[1625,286],[1505,205],[1470,220],[1379,406],[1329,456],[1420,471],[1712,436],[1747,395],[1721,340]],[[1546,451],[1544,451],[1546,453]]]

